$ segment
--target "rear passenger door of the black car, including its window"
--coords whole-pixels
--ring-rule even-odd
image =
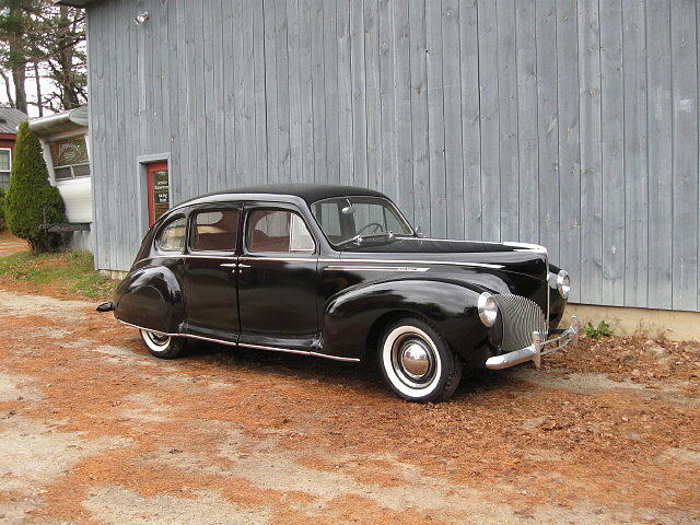
[[[238,316],[237,262],[242,203],[214,203],[189,215],[183,272],[189,334],[236,342]]]

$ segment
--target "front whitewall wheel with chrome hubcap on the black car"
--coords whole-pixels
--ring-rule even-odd
[[[380,339],[378,350],[385,381],[408,401],[444,401],[462,378],[462,361],[445,338],[418,318],[393,323]]]

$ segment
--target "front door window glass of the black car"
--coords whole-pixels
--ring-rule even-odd
[[[287,210],[250,212],[246,237],[250,252],[312,253],[316,247],[304,220]]]

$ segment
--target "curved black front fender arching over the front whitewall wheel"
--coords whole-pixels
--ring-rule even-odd
[[[362,359],[376,324],[397,314],[428,320],[453,350],[468,357],[490,338],[477,311],[482,291],[478,285],[438,279],[375,281],[345,289],[325,308],[324,353]]]

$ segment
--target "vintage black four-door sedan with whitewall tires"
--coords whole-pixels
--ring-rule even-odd
[[[575,341],[558,329],[565,271],[540,246],[424,238],[383,194],[269,185],[199,197],[151,228],[100,311],[176,358],[188,339],[377,359],[410,401],[454,393],[463,366],[504,369]]]

